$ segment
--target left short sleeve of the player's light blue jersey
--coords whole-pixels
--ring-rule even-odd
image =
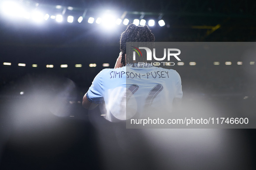
[[[102,85],[102,76],[103,76],[103,71],[97,74],[97,76],[94,78],[92,82],[91,87],[86,93],[86,97],[88,101],[95,104],[100,104],[104,101],[104,97],[103,97],[104,87]]]

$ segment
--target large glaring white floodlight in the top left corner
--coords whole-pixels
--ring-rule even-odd
[[[25,10],[23,7],[14,1],[3,1],[1,4],[1,12],[5,14],[6,16],[24,16]]]

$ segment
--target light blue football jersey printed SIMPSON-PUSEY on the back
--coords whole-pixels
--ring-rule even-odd
[[[87,99],[101,108],[108,120],[126,120],[145,109],[171,110],[174,98],[182,98],[181,78],[173,69],[134,67],[103,69],[92,82]],[[112,117],[112,118],[111,118]]]

